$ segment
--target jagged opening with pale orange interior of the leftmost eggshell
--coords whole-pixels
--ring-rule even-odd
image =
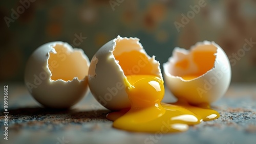
[[[51,80],[82,80],[88,75],[89,60],[80,49],[73,49],[67,44],[54,44],[51,47],[54,49],[49,52],[48,59]]]

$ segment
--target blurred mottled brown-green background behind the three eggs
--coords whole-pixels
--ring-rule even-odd
[[[161,64],[176,46],[189,49],[198,41],[216,41],[229,56],[232,82],[256,82],[255,0],[17,0],[0,4],[1,82],[22,82],[29,56],[44,43],[68,42],[91,59],[117,35],[140,38],[148,55],[155,55]]]

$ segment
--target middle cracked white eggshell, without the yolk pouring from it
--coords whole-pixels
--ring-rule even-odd
[[[115,56],[132,51],[138,51],[145,56],[145,59],[139,59],[136,62],[133,61],[134,63],[131,61],[130,65],[134,65],[132,68],[140,69],[140,71],[133,73],[134,75],[155,75],[162,79],[159,67],[160,63],[155,60],[155,56],[151,58],[146,54],[138,38],[123,38],[117,36],[117,38],[100,47],[93,56],[89,67],[88,79],[90,90],[94,98],[105,108],[120,110],[131,107],[124,83],[124,80],[127,79],[125,71],[129,69],[122,69]],[[136,56],[131,55],[126,61],[129,62],[131,59],[136,59]],[[143,70],[145,67],[139,67],[140,62],[152,65],[152,70],[145,72],[145,70]]]

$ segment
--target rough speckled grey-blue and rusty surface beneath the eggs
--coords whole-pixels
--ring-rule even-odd
[[[1,84],[3,87],[4,84]],[[2,90],[2,89],[1,89]],[[2,91],[1,91],[2,93]],[[2,96],[1,96],[2,97]],[[166,90],[165,102],[175,101]],[[220,112],[215,121],[191,126],[174,134],[131,133],[112,128],[105,119],[109,110],[91,93],[70,110],[40,108],[23,84],[9,84],[8,140],[4,139],[3,98],[0,143],[255,143],[256,84],[232,84],[212,108]]]

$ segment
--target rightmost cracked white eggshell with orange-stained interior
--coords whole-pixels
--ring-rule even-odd
[[[163,64],[164,80],[177,98],[190,104],[212,103],[229,87],[231,67],[227,55],[215,42],[203,41],[190,50],[175,47]],[[195,76],[183,79],[185,76]]]

